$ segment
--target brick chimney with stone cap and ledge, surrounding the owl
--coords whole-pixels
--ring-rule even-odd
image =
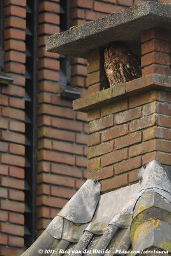
[[[75,100],[73,109],[88,113],[88,178],[101,182],[101,193],[137,182],[140,167],[153,159],[171,166],[167,8],[150,1],[124,10],[124,17],[115,13],[94,21],[94,28],[91,22],[63,33],[62,43],[60,35],[48,38],[48,51],[78,57],[87,52],[88,95]],[[142,77],[108,88],[103,51],[113,41],[141,49]]]

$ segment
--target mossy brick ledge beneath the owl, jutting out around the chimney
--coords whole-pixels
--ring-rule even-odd
[[[150,74],[127,83],[118,84],[101,92],[73,100],[73,110],[87,112],[118,99],[124,99],[149,90],[171,90],[171,76]]]

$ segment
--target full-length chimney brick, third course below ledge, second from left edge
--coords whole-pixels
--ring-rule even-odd
[[[107,141],[128,134],[128,125],[117,125],[101,132],[101,140]]]

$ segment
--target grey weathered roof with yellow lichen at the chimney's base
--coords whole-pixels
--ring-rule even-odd
[[[140,169],[138,184],[104,195],[97,180],[87,180],[22,256],[129,255],[147,248],[171,253],[171,173],[156,160]]]

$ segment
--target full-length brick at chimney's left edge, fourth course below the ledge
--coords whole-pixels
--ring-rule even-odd
[[[97,146],[93,146],[88,150],[88,158],[101,156],[114,150],[114,141],[102,143]]]

